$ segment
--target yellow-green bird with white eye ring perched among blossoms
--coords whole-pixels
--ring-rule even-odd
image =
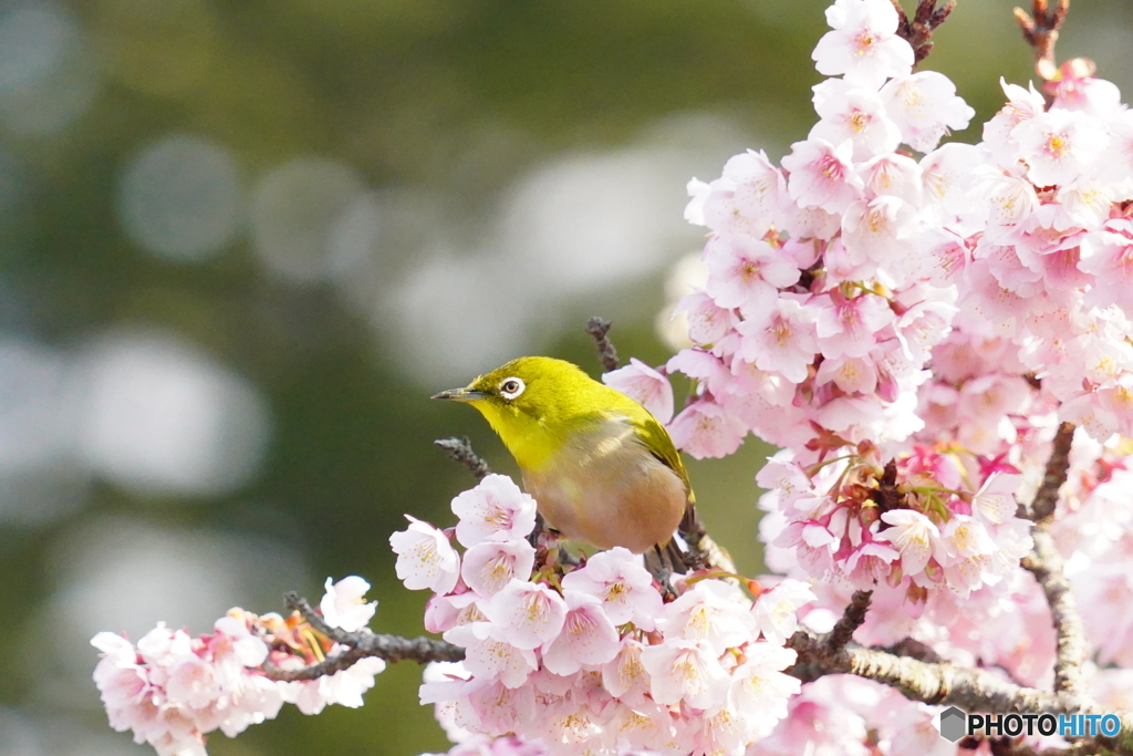
[[[539,513],[564,537],[685,571],[673,535],[702,533],[692,485],[665,426],[638,401],[553,357],[513,359],[433,399],[484,415]]]

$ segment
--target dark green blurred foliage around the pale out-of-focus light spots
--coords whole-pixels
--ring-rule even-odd
[[[514,470],[474,413],[427,401],[432,390],[449,387],[419,385],[392,367],[392,342],[381,324],[375,348],[374,324],[332,286],[269,274],[247,235],[193,264],[136,248],[114,203],[123,165],[139,145],[168,133],[205,136],[232,151],[246,181],[297,155],[326,155],[355,167],[374,187],[441,196],[452,214],[475,226],[539,159],[624,145],[671,113],[725,116],[764,139],[734,144],[733,152],[767,146],[780,156],[812,122],[809,87],[819,77],[810,50],[826,28],[826,5],[70,0],[103,80],[90,110],[65,130],[0,135],[26,186],[18,212],[0,219],[7,300],[0,324],[59,347],[120,323],[176,333],[264,392],[273,431],[259,474],[235,493],[167,507],[96,482],[86,507],[62,521],[0,524],[0,605],[9,621],[33,617],[58,589],[43,554],[60,534],[90,518],[125,513],[295,543],[315,576],[358,574],[374,584],[376,628],[415,635],[423,596],[395,581],[386,538],[402,527],[406,511],[449,521],[449,500],[470,485],[431,442],[468,435],[497,470]],[[976,107],[973,122],[1002,102],[1000,75],[1016,82],[1030,76],[1011,5],[961,0],[928,60]],[[1090,12],[1100,18],[1102,11]],[[415,262],[394,255],[384,264],[392,275]],[[622,355],[664,360],[666,349],[653,332],[661,280],[638,281],[619,297],[645,303],[615,323]],[[581,333],[585,316],[596,312],[625,309],[588,300],[542,350],[597,373]],[[692,465],[709,526],[724,533],[718,540],[752,572],[761,563],[752,475],[766,453],[749,442],[729,460]],[[313,600],[320,595],[314,583],[295,587]],[[33,647],[34,638],[0,646],[0,705],[78,715],[104,728],[95,706],[76,714],[33,695]],[[94,660],[91,649],[92,668]],[[215,736],[210,749],[218,756],[444,750],[432,711],[416,704],[418,682],[418,669],[399,665],[378,678],[363,710],[332,707],[304,717],[288,708],[236,741]],[[93,702],[93,685],[83,695]]]

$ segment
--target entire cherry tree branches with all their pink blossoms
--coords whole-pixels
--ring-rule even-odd
[[[111,725],[199,755],[283,703],[360,705],[411,659],[457,756],[1133,753],[1133,111],[1089,61],[1054,68],[1065,8],[1034,3],[1041,91],[1005,83],[970,145],[942,144],[974,116],[954,85],[913,71],[952,6],[835,0],[807,138],[689,185],[691,346],[619,367],[591,324],[603,380],[683,452],[780,447],[756,477],[775,575],[576,555],[448,440],[478,479],[455,524],[390,538],[440,639],[368,630],[357,577],[199,637],[100,634]],[[1119,727],[953,746],[946,705]]]

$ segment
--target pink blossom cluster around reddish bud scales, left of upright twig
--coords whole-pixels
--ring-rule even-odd
[[[1014,468],[918,448],[883,469],[868,455],[808,470],[783,451],[759,472],[768,563],[798,563],[819,580],[861,591],[900,587],[917,604],[999,584],[1031,549],[1015,516]],[[863,458],[864,457],[864,458]],[[964,462],[968,462],[966,465]]]

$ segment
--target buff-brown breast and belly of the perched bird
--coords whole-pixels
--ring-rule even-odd
[[[566,537],[634,553],[667,542],[688,501],[681,476],[621,418],[573,434],[542,467],[523,469],[523,484]]]

